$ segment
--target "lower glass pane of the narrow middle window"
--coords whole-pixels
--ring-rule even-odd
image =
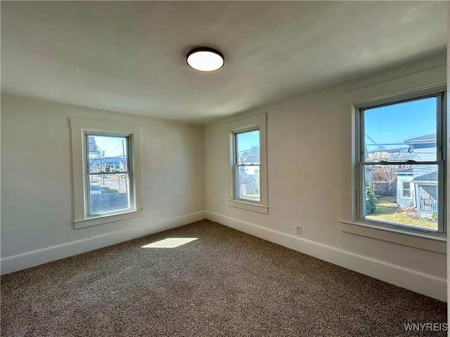
[[[259,165],[236,166],[236,197],[261,201],[259,185]]]

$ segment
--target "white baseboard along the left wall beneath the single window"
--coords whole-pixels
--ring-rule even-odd
[[[26,253],[8,256],[6,258],[1,258],[0,260],[1,275],[17,272],[18,270],[34,267],[54,260],[60,260],[61,258],[68,258],[69,256],[80,253],[86,253],[86,251],[94,251],[95,249],[119,244],[120,242],[126,242],[131,239],[137,239],[138,237],[145,237],[148,234],[170,230],[203,219],[205,219],[205,211],[200,211],[138,227],[119,230],[117,232],[101,234],[96,237],[89,237],[87,239],[68,242],[66,244],[46,247],[37,251],[27,251]]]

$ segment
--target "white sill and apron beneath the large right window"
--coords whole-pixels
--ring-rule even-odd
[[[342,232],[371,237],[373,239],[403,244],[426,251],[446,253],[446,237],[443,234],[412,232],[401,228],[381,227],[371,223],[340,220]]]

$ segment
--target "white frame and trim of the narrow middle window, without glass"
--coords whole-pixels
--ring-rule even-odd
[[[267,193],[267,143],[266,143],[266,114],[259,114],[227,124],[230,143],[230,199],[226,200],[228,206],[245,209],[257,213],[269,213],[269,199]],[[240,199],[236,188],[236,133],[259,130],[259,195],[260,201]]]

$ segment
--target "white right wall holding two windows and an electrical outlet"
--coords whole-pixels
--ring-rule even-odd
[[[415,77],[415,74],[420,77],[419,73],[425,70],[442,70],[445,62],[441,55],[376,77],[208,124],[205,126],[207,218],[446,300],[444,253],[342,232],[340,223],[352,206],[352,114],[349,105],[340,105],[341,94],[396,77]],[[411,77],[405,79],[404,83],[411,83]],[[421,79],[417,80],[420,82]],[[269,215],[226,206],[230,193],[226,123],[262,112],[268,116]],[[295,236],[296,223],[302,225],[301,237]]]

